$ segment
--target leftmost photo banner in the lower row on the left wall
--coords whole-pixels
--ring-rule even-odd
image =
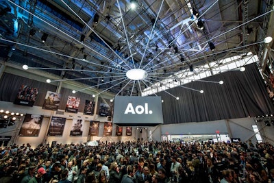
[[[20,136],[38,136],[42,125],[43,116],[39,114],[25,114]]]

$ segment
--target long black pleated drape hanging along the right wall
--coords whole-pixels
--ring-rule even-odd
[[[164,100],[165,124],[255,117],[274,112],[256,64],[247,65],[245,72],[229,71],[203,80],[223,80],[224,84],[191,82],[183,85],[202,89],[203,94],[179,86],[166,90],[179,100],[164,91],[157,93]]]

